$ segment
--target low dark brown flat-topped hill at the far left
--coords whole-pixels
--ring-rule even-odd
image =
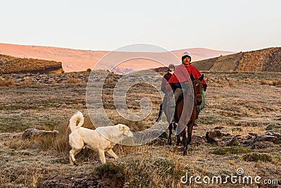
[[[61,62],[33,58],[16,58],[0,54],[0,74],[10,73],[62,73]]]

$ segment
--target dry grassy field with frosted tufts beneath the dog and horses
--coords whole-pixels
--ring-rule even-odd
[[[281,133],[281,74],[204,74],[209,84],[207,104],[194,128],[187,156],[175,146],[175,137],[169,146],[163,134],[143,146],[115,146],[119,159],[108,157],[105,165],[96,152],[84,149],[76,157],[78,166],[69,164],[67,123],[77,110],[89,116],[86,82],[6,81],[13,84],[0,86],[0,187],[281,187],[281,137],[276,134],[277,140],[262,142],[249,138],[266,132]],[[117,114],[112,101],[117,78],[110,75],[103,92],[103,107],[112,123],[124,123],[134,131],[154,125],[161,104],[157,90],[148,84],[131,87],[128,108],[139,111],[139,100],[145,96],[152,101],[152,112],[139,122],[126,120]],[[85,124],[93,126],[89,118]],[[22,139],[22,132],[30,127],[58,130],[59,134]],[[214,130],[235,136],[235,142],[223,144],[228,137],[207,142],[207,132]],[[195,176],[237,175],[237,168],[247,176],[259,175],[260,182],[278,182],[258,186],[230,181],[197,184],[194,180]],[[181,183],[186,173],[193,176],[192,184]]]

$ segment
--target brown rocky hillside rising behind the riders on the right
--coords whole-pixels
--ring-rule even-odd
[[[193,63],[199,70],[281,72],[281,48],[240,52]]]

